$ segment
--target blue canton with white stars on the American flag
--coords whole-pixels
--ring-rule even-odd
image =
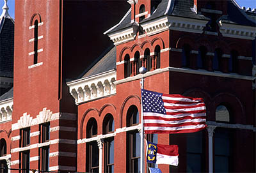
[[[141,89],[143,112],[156,112],[166,114],[161,93]]]

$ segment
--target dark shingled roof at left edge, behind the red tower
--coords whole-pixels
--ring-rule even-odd
[[[14,22],[0,19],[0,77],[13,77]]]

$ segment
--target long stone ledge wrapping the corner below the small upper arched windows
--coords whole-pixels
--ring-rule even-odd
[[[233,79],[243,79],[243,80],[255,80],[255,77],[245,76],[245,75],[237,75],[236,73],[222,73],[221,71],[206,71],[206,70],[192,70],[189,68],[175,68],[175,67],[166,67],[166,68],[158,68],[154,71],[146,72],[143,77],[150,77],[152,75],[156,75],[159,73],[164,73],[166,71],[177,71],[182,73],[191,73],[197,75],[208,75],[208,76],[216,76],[216,77],[228,77]],[[134,77],[127,77],[125,79],[116,80],[115,85],[123,84],[125,82],[131,82],[133,80],[141,79],[142,75],[136,75]]]

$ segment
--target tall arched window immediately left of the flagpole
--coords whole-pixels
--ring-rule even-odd
[[[134,126],[139,123],[139,112],[136,106],[132,105],[127,111],[127,126]],[[140,133],[138,130],[127,132],[127,171],[140,171]]]

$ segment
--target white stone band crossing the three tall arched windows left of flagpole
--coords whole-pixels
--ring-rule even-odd
[[[106,139],[106,138],[109,138],[109,137],[115,137],[116,133],[122,133],[122,132],[128,132],[128,131],[131,131],[131,130],[140,130],[141,129],[141,124],[138,124],[136,126],[131,126],[131,127],[124,127],[124,128],[117,128],[115,130],[115,132],[113,133],[109,133],[109,134],[106,134],[106,135],[97,135],[97,137],[92,137],[92,138],[84,138],[84,139],[79,139],[77,140],[77,144],[84,144],[86,142],[92,142],[92,141],[95,141],[95,140],[100,140],[100,139]]]

